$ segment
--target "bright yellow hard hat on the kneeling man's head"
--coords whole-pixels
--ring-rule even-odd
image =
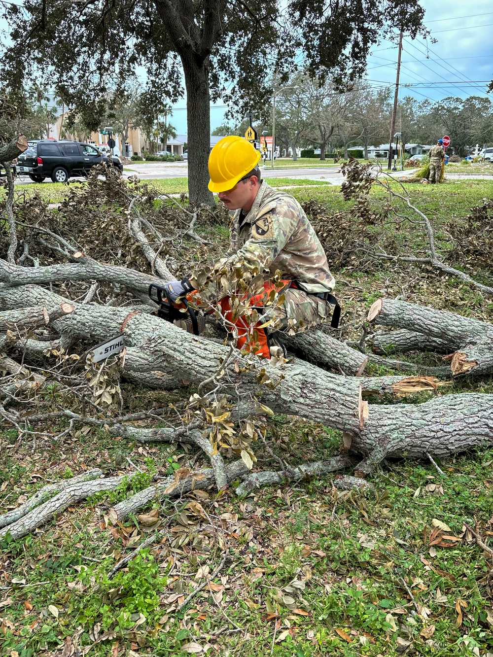
[[[261,154],[243,137],[230,135],[220,139],[209,156],[209,189],[227,192],[256,167]]]

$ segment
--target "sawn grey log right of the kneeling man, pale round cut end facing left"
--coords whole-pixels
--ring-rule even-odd
[[[368,319],[385,326],[410,328],[457,345],[456,351],[446,356],[455,377],[493,371],[493,325],[487,322],[392,299],[377,299],[369,309]]]

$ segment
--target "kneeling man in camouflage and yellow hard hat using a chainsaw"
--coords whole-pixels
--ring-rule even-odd
[[[220,151],[219,156],[215,149]],[[225,149],[226,157],[221,152]],[[331,295],[335,279],[329,271],[323,247],[300,204],[290,194],[275,191],[261,180],[257,167],[259,159],[260,153],[245,139],[225,137],[210,154],[209,188],[218,191],[226,208],[235,210],[230,248],[220,263],[264,273],[266,279],[272,278],[276,271],[282,273],[285,301],[280,306],[263,309],[262,324],[271,320],[271,325],[261,329],[259,322],[256,327],[250,327],[260,334],[261,349],[257,353],[269,357],[270,340],[266,332],[304,330],[330,317],[331,302],[335,302]],[[239,166],[236,166],[237,160]],[[236,175],[232,176],[231,169],[235,166]],[[170,281],[168,285],[177,297],[193,289],[188,281]],[[266,283],[264,288],[269,292],[273,286]],[[229,300],[223,301],[226,302],[222,303],[223,311],[227,313]],[[255,302],[258,302],[257,298]],[[237,328],[240,336],[245,334],[241,322],[237,323]],[[238,339],[238,346],[243,344],[245,340]]]

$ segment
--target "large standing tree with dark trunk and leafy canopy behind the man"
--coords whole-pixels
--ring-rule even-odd
[[[147,76],[149,104],[187,95],[189,195],[208,192],[210,101],[231,113],[269,106],[264,81],[283,80],[295,55],[313,76],[360,78],[379,35],[425,33],[418,0],[26,0],[3,4],[9,24],[0,76],[14,94],[50,70],[53,91],[99,127],[108,91]]]

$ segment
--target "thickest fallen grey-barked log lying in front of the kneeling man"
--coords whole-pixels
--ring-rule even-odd
[[[51,293],[36,286],[25,286],[22,296],[34,302],[41,294],[46,294],[47,303],[59,302],[57,295],[50,298]],[[0,286],[0,307],[18,307],[19,303],[14,288]],[[227,362],[228,347],[193,336],[154,315],[122,308],[74,305],[71,315],[53,321],[60,336],[68,335],[72,342],[81,339],[99,342],[121,332],[128,345],[126,367],[132,359],[139,363],[133,365],[134,371],[137,367],[139,371],[160,371],[174,380],[196,383],[209,380],[210,388],[214,386],[212,380],[218,363]],[[409,311],[410,305],[404,304],[403,308]],[[425,309],[426,312],[432,315],[431,309]],[[423,313],[417,316],[423,330],[427,330]],[[463,332],[471,325],[478,328],[482,323],[466,321]],[[388,455],[440,456],[493,439],[493,399],[488,395],[440,396],[419,405],[368,404],[363,398],[365,391],[391,392],[397,396],[420,390],[436,392],[436,380],[411,376],[340,376],[298,359],[278,367],[259,361],[258,367],[267,385],[259,385],[258,371],[252,370],[249,361],[238,352],[225,366],[225,390],[242,400],[258,398],[277,413],[306,417],[341,430],[350,437],[346,440],[350,450],[364,457],[359,466],[362,473],[371,472]]]

